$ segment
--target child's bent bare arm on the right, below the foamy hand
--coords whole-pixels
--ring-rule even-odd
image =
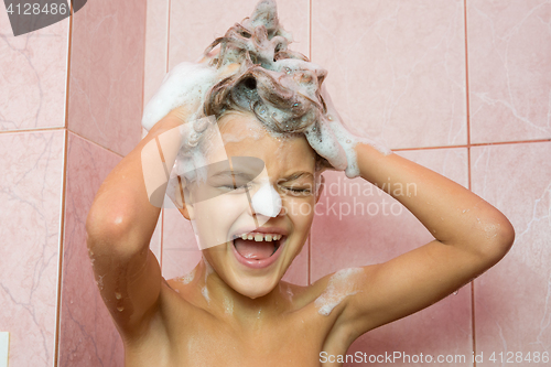
[[[386,263],[364,268],[358,292],[347,299],[337,324],[363,333],[422,310],[468,283],[509,250],[509,220],[484,199],[444,176],[397,154],[357,144],[361,177],[381,187],[417,186],[417,195],[395,196],[435,237]]]

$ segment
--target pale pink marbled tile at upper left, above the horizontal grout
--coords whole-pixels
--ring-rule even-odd
[[[65,126],[68,28],[64,19],[14,37],[0,11],[0,131]]]

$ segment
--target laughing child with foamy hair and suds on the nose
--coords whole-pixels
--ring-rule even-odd
[[[512,245],[511,225],[484,199],[350,134],[322,88],[326,73],[288,43],[262,1],[201,63],[176,67],[144,111],[148,136],[96,196],[88,248],[127,366],[341,366],[331,356],[358,336],[445,298]],[[326,169],[390,183],[434,240],[309,287],[281,281]],[[392,190],[411,184],[415,195]],[[168,281],[149,250],[166,186],[203,250],[192,273]]]

